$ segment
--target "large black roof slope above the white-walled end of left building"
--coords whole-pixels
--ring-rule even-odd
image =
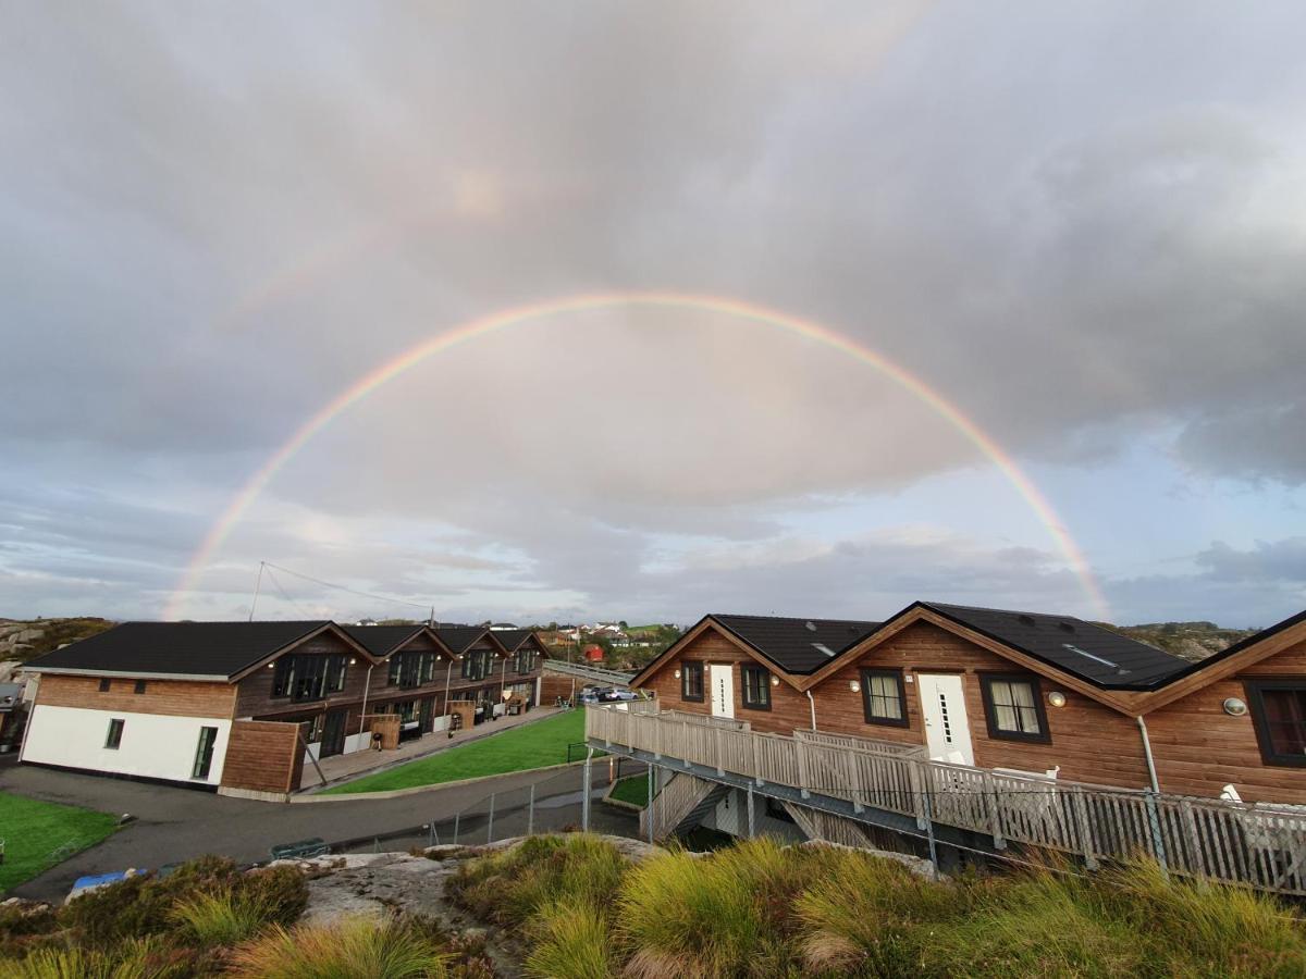
[[[31,660],[30,668],[231,677],[329,621],[123,623]]]

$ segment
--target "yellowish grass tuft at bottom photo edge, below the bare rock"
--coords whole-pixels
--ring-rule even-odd
[[[236,949],[231,971],[246,979],[409,979],[447,975],[447,956],[398,919],[345,919],[332,925],[274,925]]]

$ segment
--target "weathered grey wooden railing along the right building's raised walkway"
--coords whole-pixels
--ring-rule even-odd
[[[590,707],[585,734],[674,766],[797,788],[1081,856],[1089,867],[1138,854],[1173,873],[1306,894],[1306,812],[930,761],[917,745],[819,731],[754,732],[724,718]]]

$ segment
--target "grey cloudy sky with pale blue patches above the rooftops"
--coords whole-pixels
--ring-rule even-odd
[[[0,3],[0,615],[1297,612],[1303,31]]]

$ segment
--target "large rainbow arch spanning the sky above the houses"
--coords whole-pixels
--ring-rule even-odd
[[[643,307],[643,308],[670,308],[695,309],[703,312],[721,313],[738,317],[748,322],[773,326],[786,330],[799,337],[821,343],[832,350],[837,350],[848,356],[879,371],[882,375],[895,381],[916,398],[934,410],[942,419],[960,432],[998,469],[1008,483],[1016,489],[1038,521],[1047,530],[1057,550],[1063,555],[1067,564],[1079,578],[1084,595],[1093,604],[1098,616],[1109,620],[1109,610],[1102,597],[1097,581],[1093,578],[1088,561],[1066,530],[1051,504],[1038,491],[1038,487],[1027,476],[1016,461],[1008,456],[998,443],[995,443],[980,426],[964,415],[956,405],[930,388],[925,381],[910,371],[892,363],[870,347],[862,346],[827,326],[803,320],[797,316],[767,309],[752,303],[722,296],[693,295],[682,292],[597,292],[562,299],[518,305],[511,309],[491,313],[488,316],[471,320],[451,330],[440,333],[431,339],[423,341],[393,360],[384,363],[368,373],[359,377],[347,389],[332,398],[316,414],[304,422],[290,439],[252,475],[240,488],[218,520],[209,529],[200,547],[187,564],[176,589],[174,590],[165,611],[165,617],[180,617],[180,610],[185,597],[196,590],[199,580],[208,568],[213,555],[226,540],[232,527],[242,520],[255,500],[266,489],[277,473],[294,456],[307,445],[317,432],[330,424],[332,419],[347,411],[355,403],[366,398],[372,392],[398,377],[401,373],[421,364],[427,358],[443,354],[461,343],[469,343],[481,337],[486,337],[499,330],[520,326],[538,320],[567,313],[579,313],[592,309],[614,307]]]

